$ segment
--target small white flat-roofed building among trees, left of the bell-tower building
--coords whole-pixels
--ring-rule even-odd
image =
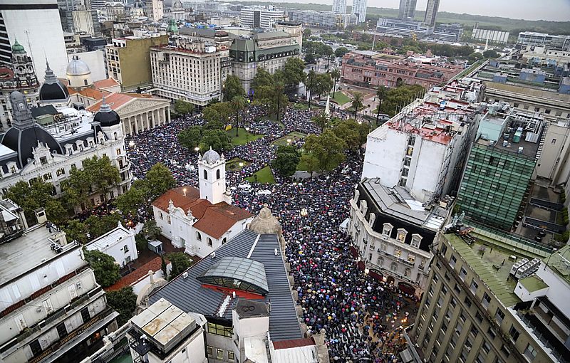
[[[135,231],[123,227],[120,222],[117,228],[87,243],[86,248],[88,251],[97,250],[113,257],[121,268],[138,258]]]

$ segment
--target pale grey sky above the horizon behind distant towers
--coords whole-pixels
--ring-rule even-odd
[[[333,4],[333,0],[284,0],[287,2]],[[274,4],[278,5],[279,0]],[[352,0],[347,0],[351,5]],[[368,6],[398,9],[399,0],[368,0]],[[425,10],[427,0],[418,0]],[[511,19],[570,21],[570,0],[441,0],[440,11],[459,14],[502,16]]]

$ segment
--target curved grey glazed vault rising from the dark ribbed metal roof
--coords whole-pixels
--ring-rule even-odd
[[[269,293],[263,264],[241,257],[224,257],[197,277],[202,283],[234,288],[237,290]]]

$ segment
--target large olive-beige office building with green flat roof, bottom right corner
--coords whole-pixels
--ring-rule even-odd
[[[549,253],[497,243],[440,235],[410,335],[425,362],[569,362],[568,250],[545,267]]]

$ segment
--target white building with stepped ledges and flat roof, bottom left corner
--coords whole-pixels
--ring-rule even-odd
[[[0,254],[2,362],[78,362],[117,329],[82,246],[56,226],[29,229]]]

